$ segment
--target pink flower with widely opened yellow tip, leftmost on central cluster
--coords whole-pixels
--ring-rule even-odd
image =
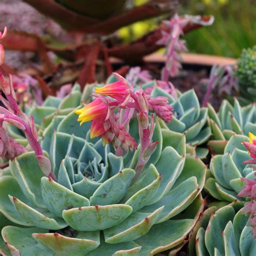
[[[95,119],[105,119],[107,115],[107,109],[109,106],[104,98],[96,98],[91,103],[85,105],[81,109],[75,110],[75,113],[79,115],[78,122],[82,125],[85,122],[89,122]]]

